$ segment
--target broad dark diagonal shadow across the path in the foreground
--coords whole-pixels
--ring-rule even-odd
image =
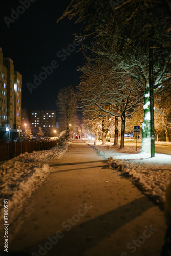
[[[88,207],[89,206],[90,205],[88,205]],[[80,220],[77,223],[72,220],[72,223],[74,223],[74,225],[68,224],[71,227],[70,230],[68,230],[69,226],[67,226],[68,222],[66,220],[66,223],[65,223],[66,226],[63,226],[63,228],[66,228],[66,229],[62,231],[63,238],[58,239],[58,242],[55,245],[52,245],[51,246],[52,248],[50,250],[46,250],[47,253],[44,255],[46,256],[83,255],[84,252],[98,245],[105,238],[109,238],[111,234],[116,232],[119,228],[124,226],[126,223],[131,222],[133,219],[137,218],[139,215],[143,214],[143,212],[147,211],[149,208],[153,206],[154,205],[151,201],[148,201],[145,196],[142,196],[141,198],[138,198],[128,204],[120,206],[114,210],[106,212],[105,214],[97,216],[93,219],[91,219],[92,218],[91,209],[88,209],[88,212],[85,217],[80,217]],[[70,216],[69,218],[73,218],[73,217]],[[88,218],[88,220],[79,224],[79,222],[81,222],[81,218],[84,218],[84,219]],[[144,225],[148,225],[148,224],[149,223],[146,223],[146,222],[144,223]],[[57,227],[56,232],[58,230],[59,229]],[[48,225],[47,225],[47,237],[48,236],[49,237],[55,236],[55,233],[48,232]],[[29,242],[29,237],[28,237],[28,242]],[[39,245],[45,248],[45,244],[47,242],[49,242],[49,240],[45,238],[44,240],[39,241],[38,244],[37,243],[32,244],[29,247],[27,247],[26,245],[25,251],[26,253],[30,253],[30,255],[34,255],[34,256],[40,255],[38,252]],[[115,243],[115,241],[113,242]],[[36,254],[32,254],[33,252]],[[121,252],[122,252],[122,248],[121,248]],[[20,255],[20,254],[9,254],[9,255]],[[28,254],[23,253],[23,256],[25,255],[27,256]]]

